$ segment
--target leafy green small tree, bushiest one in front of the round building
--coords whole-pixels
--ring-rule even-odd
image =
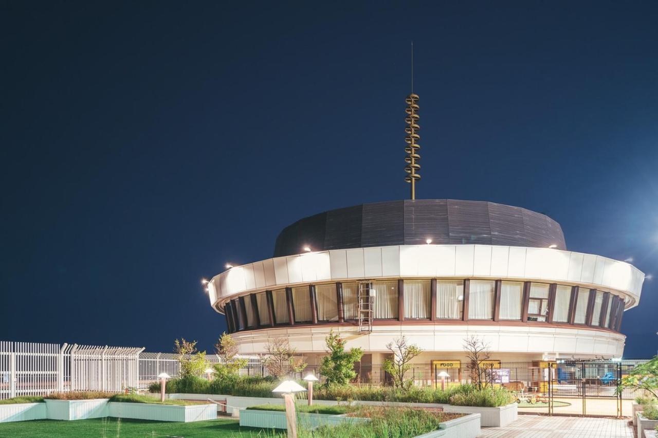
[[[320,365],[320,374],[324,376],[324,386],[347,385],[351,379],[357,376],[354,371],[354,362],[361,360],[363,350],[354,348],[346,352],[345,339],[342,339],[338,333],[334,334],[333,330],[324,341],[329,354],[322,358]]]

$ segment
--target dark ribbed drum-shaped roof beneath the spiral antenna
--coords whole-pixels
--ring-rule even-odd
[[[388,201],[338,208],[298,220],[276,237],[274,256],[387,245],[510,245],[567,249],[560,224],[526,208],[453,199]]]

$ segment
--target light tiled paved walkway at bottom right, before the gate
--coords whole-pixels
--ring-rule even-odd
[[[519,415],[506,427],[482,427],[480,438],[633,438],[628,420]]]

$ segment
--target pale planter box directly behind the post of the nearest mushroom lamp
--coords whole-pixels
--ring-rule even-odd
[[[318,426],[336,426],[344,422],[367,422],[367,418],[347,417],[345,415],[307,414],[297,412],[299,426],[315,429]],[[287,429],[286,412],[274,410],[249,410],[240,412],[240,426],[261,427],[263,429]]]

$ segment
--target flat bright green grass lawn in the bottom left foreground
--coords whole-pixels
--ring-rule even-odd
[[[240,427],[238,420],[228,418],[205,422],[174,423],[129,420],[120,418],[95,418],[93,420],[59,421],[32,420],[0,424],[0,437],[217,437],[251,438],[284,437],[273,435],[271,430]]]

